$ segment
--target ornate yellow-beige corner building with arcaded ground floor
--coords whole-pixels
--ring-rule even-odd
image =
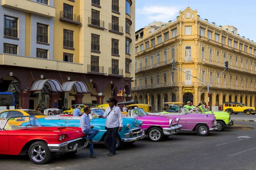
[[[198,11],[186,8],[169,23],[150,24],[135,33],[135,81],[132,96],[161,110],[164,102],[207,103],[210,82],[210,106],[223,102],[242,102],[255,106],[256,43],[241,37],[234,26],[217,26],[202,19]],[[175,67],[191,74],[172,69]]]

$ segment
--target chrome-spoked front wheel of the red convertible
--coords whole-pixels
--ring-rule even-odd
[[[47,164],[52,159],[52,152],[46,142],[34,142],[29,147],[29,159],[35,164]]]

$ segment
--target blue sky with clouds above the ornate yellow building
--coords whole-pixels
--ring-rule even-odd
[[[135,30],[155,21],[174,20],[188,0],[136,0]],[[238,34],[256,42],[256,0],[189,0],[189,7],[218,26],[234,26]]]

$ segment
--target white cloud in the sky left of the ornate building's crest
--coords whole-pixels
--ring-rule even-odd
[[[137,9],[137,14],[145,15],[149,21],[168,22],[175,19],[179,8],[175,6],[153,6],[145,5],[143,8]]]

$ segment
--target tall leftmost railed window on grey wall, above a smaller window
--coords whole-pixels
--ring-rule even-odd
[[[3,17],[4,26],[3,26],[3,35],[8,37],[18,37],[18,19],[14,17]]]

